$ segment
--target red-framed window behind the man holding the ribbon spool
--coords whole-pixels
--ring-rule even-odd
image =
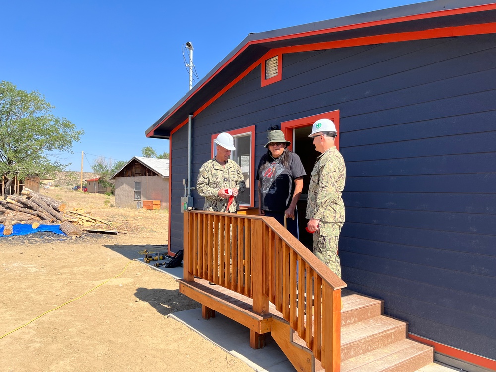
[[[230,130],[227,133],[234,138],[234,147],[236,150],[231,151],[231,160],[234,160],[241,168],[241,173],[245,178],[246,190],[238,195],[238,202],[241,206],[252,207],[254,203],[254,155],[255,155],[255,126],[247,128]],[[220,133],[212,135],[212,157],[217,154],[214,139]]]

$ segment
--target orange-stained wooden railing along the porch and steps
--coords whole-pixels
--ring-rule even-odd
[[[183,263],[184,280],[197,276],[250,297],[259,314],[272,302],[325,370],[340,370],[346,284],[275,219],[185,211]]]

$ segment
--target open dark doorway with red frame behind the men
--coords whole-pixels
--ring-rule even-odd
[[[339,149],[339,110],[281,123],[281,130],[284,132],[284,136],[286,138],[292,138],[292,144],[289,149],[300,156],[303,167],[305,168],[305,172],[307,173],[307,176],[303,178],[302,195],[300,196],[300,200],[297,203],[298,228],[300,242],[302,242],[303,245],[309,248],[311,251],[313,251],[313,241],[312,235],[308,233],[307,230],[305,230],[308,222],[308,220],[305,218],[305,211],[307,209],[310,174],[320,153],[315,151],[313,141],[308,136],[311,133],[313,123],[323,118],[332,120],[336,125],[338,136],[335,139],[334,143]]]

